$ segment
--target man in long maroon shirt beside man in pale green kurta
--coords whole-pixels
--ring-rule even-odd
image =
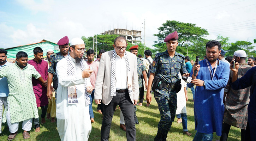
[[[42,76],[43,80],[46,81],[48,78],[48,63],[43,59],[43,50],[40,47],[34,48],[34,56],[33,60],[29,60],[28,64],[35,67],[36,71]],[[41,107],[41,124],[45,123],[45,115],[48,108],[48,98],[47,98],[47,85],[42,85],[42,82],[39,80],[32,78],[33,90],[36,96],[36,105],[37,108]],[[40,131],[39,118],[34,118],[36,132]]]

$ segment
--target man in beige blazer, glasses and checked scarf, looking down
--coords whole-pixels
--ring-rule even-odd
[[[103,104],[105,111],[101,126],[101,141],[108,141],[112,117],[117,105],[124,115],[127,141],[135,141],[133,105],[137,104],[139,97],[137,58],[126,51],[127,41],[122,36],[115,38],[113,47],[114,50],[107,51],[101,56],[95,84],[95,103]]]

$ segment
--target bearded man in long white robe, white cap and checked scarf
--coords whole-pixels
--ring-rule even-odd
[[[93,71],[83,60],[81,38],[70,42],[70,54],[56,67],[59,79],[56,102],[57,127],[61,141],[87,141],[91,133],[89,94],[93,91],[89,76]]]

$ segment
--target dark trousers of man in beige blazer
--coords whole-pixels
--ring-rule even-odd
[[[104,117],[101,125],[101,141],[108,141],[111,122],[117,105],[119,105],[124,115],[127,141],[135,141],[136,128],[133,117],[133,103],[131,102],[128,90],[124,93],[117,92],[117,95],[113,97],[108,105],[103,104]]]

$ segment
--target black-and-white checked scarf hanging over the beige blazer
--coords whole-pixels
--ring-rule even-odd
[[[126,63],[126,68],[127,68],[127,84],[128,84],[128,92],[129,94],[132,94],[132,82],[131,82],[131,73],[130,73],[130,64],[129,64],[129,59],[128,55],[125,51],[124,53],[125,57],[125,63]],[[111,63],[111,92],[110,96],[116,96],[117,92],[115,89],[115,49],[113,51],[113,56],[112,56],[112,63]]]

